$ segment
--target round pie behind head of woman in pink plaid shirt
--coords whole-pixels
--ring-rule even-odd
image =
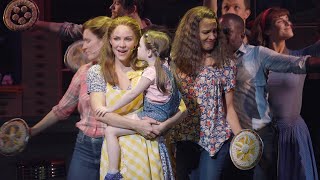
[[[68,47],[64,54],[64,64],[73,72],[76,72],[80,66],[90,62],[82,50],[82,45],[82,40],[76,41]]]

